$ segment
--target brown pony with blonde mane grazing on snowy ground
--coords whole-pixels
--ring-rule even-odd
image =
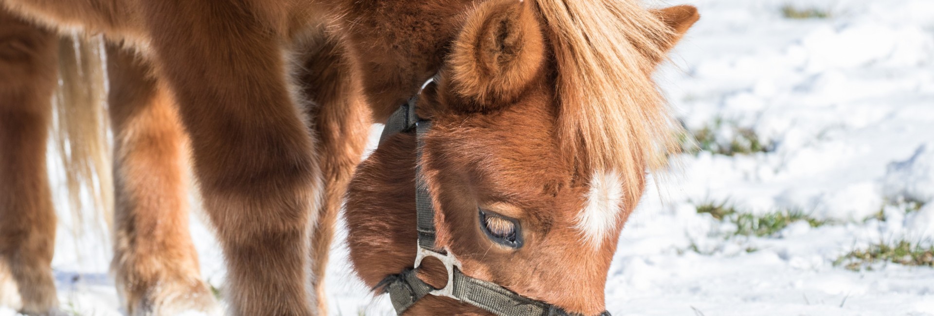
[[[226,256],[230,312],[325,313],[334,221],[369,122],[439,72],[418,106],[435,126],[418,163],[439,244],[469,276],[593,314],[644,170],[672,148],[650,75],[697,20],[693,7],[648,11],[630,0],[0,7],[0,305],[28,314],[57,307],[44,158],[53,93],[69,184],[90,180],[99,209],[110,203],[96,102],[104,89],[78,86],[102,82],[95,62],[105,54],[58,34],[106,39],[112,269],[130,314],[216,309],[186,230],[188,148]],[[412,267],[414,144],[406,133],[389,138],[349,194],[352,258],[371,285]],[[489,214],[482,226],[477,207]],[[516,228],[507,222],[521,227],[521,249],[477,235]],[[443,285],[437,267],[424,271]],[[477,312],[442,298],[410,312],[440,310]]]

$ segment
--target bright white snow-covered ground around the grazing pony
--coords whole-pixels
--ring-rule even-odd
[[[660,87],[688,130],[706,128],[719,144],[751,132],[768,150],[686,154],[659,176],[619,240],[607,309],[934,315],[934,268],[834,265],[872,243],[934,242],[934,1],[666,2],[680,3],[699,7],[702,18],[658,74]],[[787,19],[786,5],[830,17]],[[735,216],[698,213],[705,204],[757,216],[800,212],[826,224],[798,221],[745,236],[733,233]],[[906,211],[911,205],[923,206]],[[120,314],[106,273],[109,246],[91,233],[71,240],[63,217],[53,262],[63,306]],[[219,248],[200,216],[192,218],[202,271],[220,286]],[[333,314],[391,314],[389,300],[353,276],[343,246],[334,251]]]

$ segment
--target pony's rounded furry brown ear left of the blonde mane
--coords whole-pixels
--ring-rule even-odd
[[[451,91],[472,99],[463,110],[512,103],[542,72],[545,39],[530,2],[491,0],[464,23],[448,64]]]

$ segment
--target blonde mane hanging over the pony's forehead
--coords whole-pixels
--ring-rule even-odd
[[[638,199],[645,168],[678,150],[651,79],[672,30],[635,0],[535,0],[558,63],[559,139],[582,174],[616,172]],[[636,202],[637,200],[628,200]],[[629,204],[634,205],[634,204]]]

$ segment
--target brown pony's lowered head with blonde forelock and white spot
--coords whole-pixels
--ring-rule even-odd
[[[387,138],[361,164],[347,199],[348,243],[373,286],[412,268],[415,166],[435,208],[436,243],[463,273],[569,312],[604,308],[616,240],[647,171],[673,148],[651,74],[698,20],[694,7],[646,10],[630,1],[490,0],[468,16],[419,117],[415,135]],[[436,288],[446,270],[426,261]],[[432,295],[410,314],[487,314]]]

